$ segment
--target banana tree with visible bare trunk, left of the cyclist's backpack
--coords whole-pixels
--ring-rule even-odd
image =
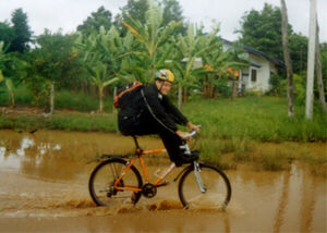
[[[104,112],[104,88],[121,79],[129,79],[132,47],[133,36],[128,34],[120,37],[114,26],[109,30],[101,26],[99,33],[85,38],[80,35],[76,40],[76,48],[84,53],[83,62],[90,74],[90,81],[99,91],[100,113]]]

